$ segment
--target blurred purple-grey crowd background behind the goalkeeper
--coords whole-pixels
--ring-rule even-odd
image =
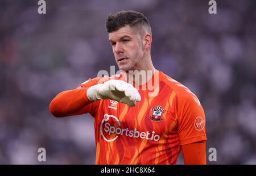
[[[36,0],[0,0],[0,164],[94,164],[93,118],[53,118],[48,106],[110,73],[105,19],[119,10],[147,16],[155,68],[199,97],[207,157],[217,150],[208,164],[256,164],[256,1],[217,1],[217,14],[208,2],[46,0],[38,14]],[[47,162],[38,161],[41,147]]]

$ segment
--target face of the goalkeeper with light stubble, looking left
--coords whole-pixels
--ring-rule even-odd
[[[137,64],[143,59],[143,47],[139,33],[130,26],[125,26],[109,33],[115,61],[119,70],[128,72],[137,70]]]

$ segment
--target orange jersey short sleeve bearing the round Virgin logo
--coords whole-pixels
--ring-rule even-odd
[[[177,133],[180,144],[191,144],[207,140],[205,114],[199,99],[193,93],[177,97]]]

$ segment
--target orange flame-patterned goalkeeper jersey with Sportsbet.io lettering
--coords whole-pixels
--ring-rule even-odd
[[[152,85],[136,87],[141,102],[134,107],[110,99],[90,102],[88,87],[110,79],[125,81],[122,73],[89,79],[50,105],[56,116],[94,117],[96,164],[175,164],[181,145],[207,139],[203,107],[181,83],[156,71]]]

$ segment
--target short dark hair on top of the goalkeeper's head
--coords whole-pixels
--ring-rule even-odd
[[[109,14],[106,19],[106,30],[113,32],[119,30],[119,28],[129,25],[130,27],[146,27],[151,34],[150,24],[146,16],[141,12],[133,10],[122,10],[116,14]]]

